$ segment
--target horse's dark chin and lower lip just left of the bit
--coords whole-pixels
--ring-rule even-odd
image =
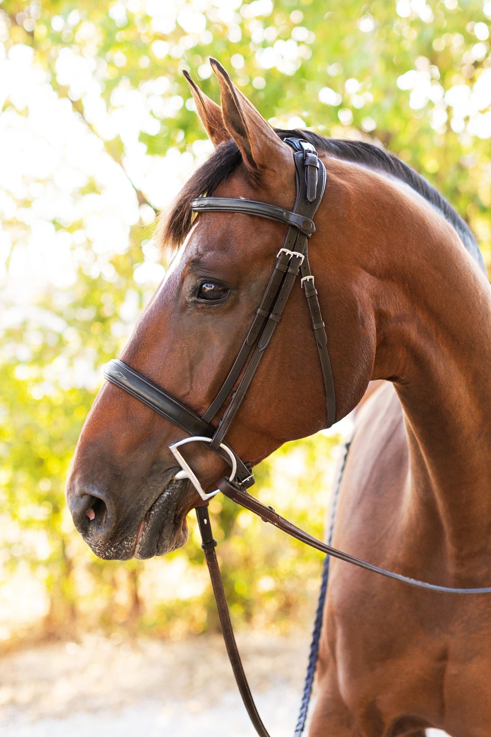
[[[169,481],[147,511],[135,545],[134,557],[145,560],[182,548],[188,540],[184,504],[188,481]]]

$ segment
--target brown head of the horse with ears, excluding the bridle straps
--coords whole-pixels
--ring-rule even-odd
[[[174,258],[121,355],[127,366],[199,416],[216,396],[247,335],[286,226],[239,212],[200,212],[193,220],[191,200],[216,195],[292,210],[296,192],[293,151],[283,142],[288,132],[275,132],[225,69],[214,60],[212,65],[221,108],[188,82],[215,150],[160,220],[158,239],[163,248],[174,250]],[[300,131],[289,133],[304,137]],[[372,304],[366,290],[358,288],[364,271],[350,253],[360,243],[353,237],[350,213],[355,188],[348,176],[336,192],[339,166],[337,161],[328,167],[326,194],[310,241],[312,270],[328,321],[336,419],[364,394],[375,356]],[[230,426],[227,444],[255,465],[285,441],[325,425],[316,341],[297,283]],[[99,391],[82,428],[66,491],[77,530],[98,556],[145,559],[184,545],[186,515],[203,502],[188,480],[175,478],[178,467],[169,445],[180,439],[179,427],[118,386],[106,383]],[[198,443],[184,453],[203,489],[214,489],[227,469],[222,458]]]

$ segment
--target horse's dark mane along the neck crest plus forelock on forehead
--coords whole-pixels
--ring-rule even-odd
[[[363,141],[326,139],[310,130],[275,129],[280,138],[296,136],[307,139],[318,151],[325,151],[329,156],[343,161],[352,161],[407,184],[427,200],[431,206],[445,217],[459,234],[465,248],[485,272],[484,261],[467,223],[456,213],[451,205],[440,195],[434,186],[411,169],[397,156],[382,148]],[[202,195],[213,195],[219,183],[241,162],[241,153],[236,142],[230,139],[216,147],[210,158],[202,164],[188,179],[170,209],[160,219],[157,238],[160,248],[178,248],[188,234],[193,221],[191,200]]]

